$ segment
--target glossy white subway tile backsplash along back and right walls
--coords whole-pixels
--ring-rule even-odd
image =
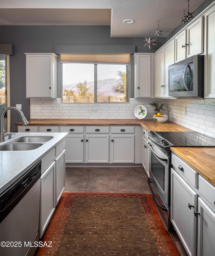
[[[31,119],[135,119],[134,108],[147,109],[145,119],[152,119],[155,98],[130,98],[129,103],[61,103],[60,98],[32,98]],[[165,102],[169,121],[215,138],[215,101],[207,99],[158,99]],[[96,109],[96,110],[95,110]]]

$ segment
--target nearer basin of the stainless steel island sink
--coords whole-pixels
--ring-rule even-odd
[[[6,143],[0,146],[0,151],[32,150],[42,145],[43,143]]]

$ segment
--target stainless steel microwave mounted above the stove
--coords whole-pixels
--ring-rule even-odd
[[[168,67],[169,96],[204,98],[204,55],[194,55]]]

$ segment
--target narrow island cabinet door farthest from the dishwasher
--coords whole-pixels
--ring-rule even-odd
[[[57,206],[60,197],[65,189],[65,149],[55,159],[55,206]]]

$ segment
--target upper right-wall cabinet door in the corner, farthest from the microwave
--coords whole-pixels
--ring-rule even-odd
[[[164,97],[164,52],[155,55],[155,97]]]

